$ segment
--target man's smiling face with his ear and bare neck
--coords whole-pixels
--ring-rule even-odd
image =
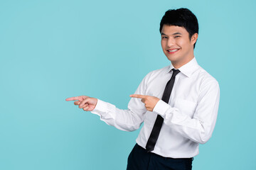
[[[189,39],[188,31],[179,26],[164,25],[161,30],[161,47],[171,64],[178,69],[193,59],[193,45],[198,34]]]

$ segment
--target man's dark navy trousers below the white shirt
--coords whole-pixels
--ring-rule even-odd
[[[191,170],[192,161],[193,158],[161,157],[158,154],[146,152],[143,147],[136,144],[129,154],[127,170]]]

